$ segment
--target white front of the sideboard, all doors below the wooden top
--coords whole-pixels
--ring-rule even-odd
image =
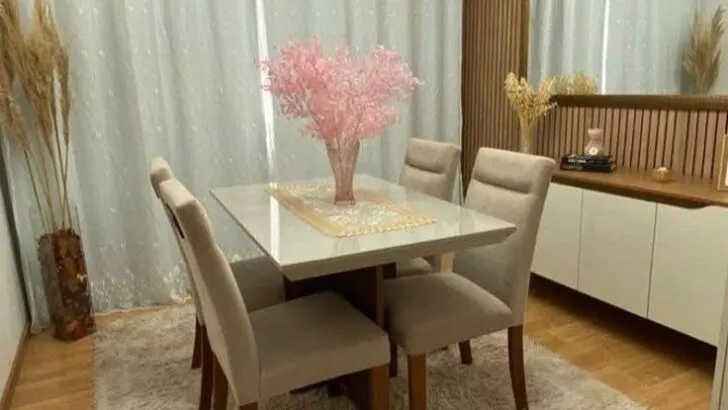
[[[684,209],[552,183],[533,272],[717,345],[728,209]]]

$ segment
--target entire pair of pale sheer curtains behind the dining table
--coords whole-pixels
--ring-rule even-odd
[[[30,16],[32,2],[20,3]],[[383,44],[402,53],[424,80],[402,104],[401,122],[364,145],[362,172],[396,179],[409,137],[460,143],[460,0],[53,3],[70,39],[70,183],[97,312],[187,298],[179,251],[149,187],[153,156],[165,156],[201,198],[232,259],[259,251],[209,188],[330,175],[321,144],[300,136],[298,124],[276,114],[275,128],[266,125],[264,111],[272,105],[260,91],[255,63],[259,54],[275,58],[286,41],[317,35],[362,52]],[[22,156],[17,147],[6,148],[33,329],[39,330],[48,313],[34,202]]]

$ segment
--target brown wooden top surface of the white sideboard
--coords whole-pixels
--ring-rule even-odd
[[[670,182],[658,182],[652,178],[651,170],[617,168],[611,174],[557,170],[552,180],[683,208],[728,207],[728,192],[716,190],[714,181],[673,176]]]

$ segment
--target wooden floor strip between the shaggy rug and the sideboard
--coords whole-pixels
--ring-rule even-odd
[[[532,281],[526,333],[649,408],[710,408],[716,348],[688,336],[545,279]]]

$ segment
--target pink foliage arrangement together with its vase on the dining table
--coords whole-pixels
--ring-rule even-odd
[[[360,141],[381,136],[399,120],[393,100],[412,96],[420,81],[402,57],[378,47],[354,59],[348,46],[324,55],[316,39],[290,42],[279,61],[263,61],[263,89],[279,100],[289,118],[303,118],[303,134],[326,144],[335,180],[334,203],[353,204],[354,168]]]

